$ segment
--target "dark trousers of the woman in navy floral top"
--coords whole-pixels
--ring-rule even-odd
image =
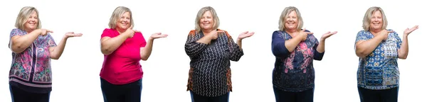
[[[282,91],[273,87],[276,102],[312,102],[315,89],[301,92]]]

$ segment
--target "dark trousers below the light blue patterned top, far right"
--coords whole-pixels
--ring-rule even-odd
[[[357,87],[361,102],[397,102],[399,87],[392,89],[372,90]]]

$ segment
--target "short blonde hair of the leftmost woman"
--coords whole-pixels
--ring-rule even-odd
[[[38,11],[36,8],[32,6],[25,6],[21,8],[21,11],[19,11],[18,17],[16,17],[15,27],[19,28],[21,30],[24,30],[25,23],[28,21],[28,17],[31,15],[31,13],[36,12],[37,13],[37,29],[41,28],[41,21],[38,16]]]

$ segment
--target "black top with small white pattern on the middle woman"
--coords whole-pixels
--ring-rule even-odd
[[[196,42],[204,37],[203,33],[190,31],[185,44],[191,59],[187,91],[201,96],[221,96],[232,91],[230,60],[240,60],[243,50],[224,32],[206,45]]]

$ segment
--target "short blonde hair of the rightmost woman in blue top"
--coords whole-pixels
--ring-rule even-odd
[[[378,6],[373,6],[371,8],[368,8],[367,13],[365,13],[365,15],[364,15],[363,26],[362,26],[364,30],[369,30],[370,29],[372,14],[375,11],[381,12],[382,21],[383,21],[383,25],[382,25],[381,29],[386,29],[387,28],[387,25],[389,24],[389,22],[387,21],[386,14],[382,10],[382,8],[380,8]]]

